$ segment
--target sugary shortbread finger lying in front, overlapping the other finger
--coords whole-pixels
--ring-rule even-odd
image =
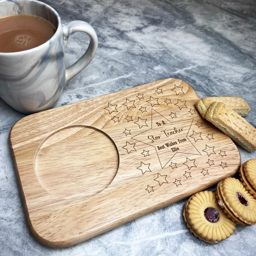
[[[256,129],[226,104],[213,102],[205,118],[248,152],[256,150]]]

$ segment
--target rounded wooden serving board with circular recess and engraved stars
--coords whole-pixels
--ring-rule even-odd
[[[9,137],[32,234],[73,245],[236,173],[240,153],[164,79],[24,117]]]

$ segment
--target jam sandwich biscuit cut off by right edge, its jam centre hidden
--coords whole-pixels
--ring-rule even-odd
[[[239,176],[245,188],[256,198],[256,159],[250,159],[241,165]]]

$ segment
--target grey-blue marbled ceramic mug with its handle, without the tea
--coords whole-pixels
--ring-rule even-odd
[[[59,14],[36,0],[1,0],[0,18],[29,14],[50,21],[56,32],[46,43],[26,51],[0,53],[0,97],[11,107],[26,114],[49,109],[56,104],[64,85],[93,59],[98,38],[85,21],[61,24]],[[84,32],[90,37],[85,54],[66,68],[65,48],[69,35]]]

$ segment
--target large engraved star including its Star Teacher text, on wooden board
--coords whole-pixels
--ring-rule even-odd
[[[171,122],[155,109],[151,117],[151,128],[132,139],[154,147],[162,168],[176,154],[201,155],[188,136],[193,119]]]

